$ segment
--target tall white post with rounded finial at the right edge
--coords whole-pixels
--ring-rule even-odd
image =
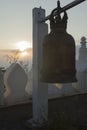
[[[87,47],[86,38],[81,38],[81,47],[79,49],[79,58],[77,61],[77,78],[80,93],[87,92]]]

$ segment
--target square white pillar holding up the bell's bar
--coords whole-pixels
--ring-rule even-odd
[[[40,82],[41,50],[44,36],[48,33],[45,10],[33,9],[33,123],[43,125],[48,121],[48,85]]]

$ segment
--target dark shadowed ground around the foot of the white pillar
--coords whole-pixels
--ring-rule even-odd
[[[87,94],[52,99],[48,106],[48,123],[37,130],[87,130]],[[32,102],[0,108],[0,130],[31,130],[31,118]]]

